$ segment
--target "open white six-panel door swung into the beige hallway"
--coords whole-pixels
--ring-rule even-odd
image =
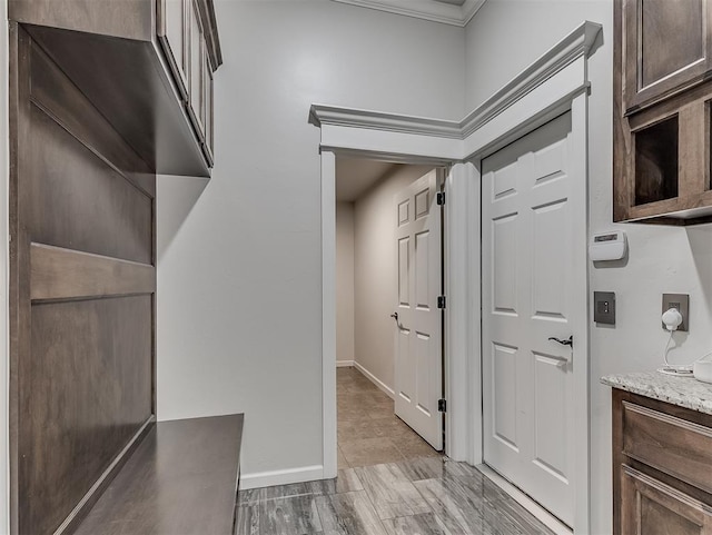
[[[395,196],[397,318],[396,415],[435,449],[443,449],[441,206],[433,170]]]

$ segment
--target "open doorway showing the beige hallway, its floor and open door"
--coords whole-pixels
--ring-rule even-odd
[[[443,397],[443,315],[437,297],[443,256],[436,197],[443,175],[433,165],[336,157],[338,469],[442,456],[443,418],[437,403]],[[422,225],[426,216],[437,218],[432,228]],[[411,228],[409,236],[398,238],[408,218],[417,219],[422,228]],[[424,264],[428,246],[437,247],[431,251],[429,265]],[[425,277],[428,269],[429,278],[418,287],[418,276]],[[416,303],[418,297],[423,303]],[[409,308],[416,314],[429,308],[436,331],[431,333],[421,318],[417,328],[411,325],[415,318]],[[415,341],[400,339],[404,333],[413,333]],[[417,347],[417,341],[431,347]],[[433,359],[437,359],[436,369]],[[406,399],[418,402],[413,404],[415,410],[404,406]],[[427,415],[433,420],[427,422]],[[423,417],[425,426],[419,422]]]

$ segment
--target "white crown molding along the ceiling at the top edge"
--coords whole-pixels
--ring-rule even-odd
[[[389,13],[432,20],[443,24],[467,26],[486,0],[465,0],[463,6],[434,0],[333,0],[362,8],[377,9]]]

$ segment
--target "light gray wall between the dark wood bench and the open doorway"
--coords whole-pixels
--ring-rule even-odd
[[[212,179],[201,192],[158,179],[158,417],[244,412],[249,485],[323,459],[309,106],[459,119],[464,29],[328,0],[217,0],[216,12]]]

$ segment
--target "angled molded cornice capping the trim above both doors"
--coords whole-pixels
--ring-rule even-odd
[[[578,58],[591,56],[600,44],[602,28],[596,22],[583,22],[462,121],[315,103],[309,109],[309,122],[317,127],[330,125],[462,140]],[[583,80],[582,88],[587,85]]]

